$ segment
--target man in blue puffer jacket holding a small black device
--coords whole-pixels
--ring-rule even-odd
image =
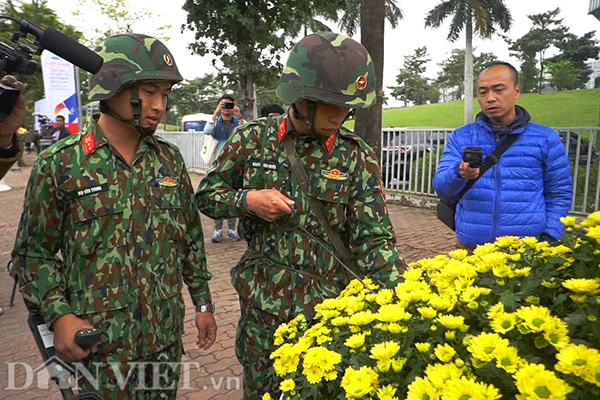
[[[569,159],[558,133],[530,122],[529,113],[515,105],[518,82],[516,69],[508,63],[493,64],[479,75],[482,112],[448,137],[433,177],[440,197],[454,197],[479,176],[479,168],[462,161],[466,147],[481,147],[485,160],[508,135],[519,135],[456,207],[456,236],[465,248],[505,235],[553,241],[563,232],[560,218],[572,196]]]

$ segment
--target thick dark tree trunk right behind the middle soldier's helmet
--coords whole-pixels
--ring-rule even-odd
[[[379,157],[381,148],[381,112],[383,107],[383,37],[385,0],[361,0],[360,41],[375,65],[377,101],[370,108],[356,110],[354,132],[362,137]]]

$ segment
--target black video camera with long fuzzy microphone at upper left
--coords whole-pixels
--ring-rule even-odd
[[[25,19],[19,21],[6,15],[0,15],[0,19],[2,18],[17,23],[19,30],[13,32],[11,37],[11,41],[16,44],[15,47],[0,42],[0,73],[33,75],[38,70],[38,63],[32,60],[32,57],[41,54],[44,49],[92,74],[102,67],[104,62],[102,57],[55,29],[44,30]],[[33,35],[35,39],[29,40],[28,34]],[[35,50],[19,43],[19,39],[27,41],[29,45],[35,47]],[[15,88],[0,83],[0,122],[11,114],[19,94],[20,92]]]

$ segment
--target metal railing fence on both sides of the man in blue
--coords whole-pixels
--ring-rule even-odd
[[[597,127],[555,128],[569,155],[573,176],[571,214],[598,211]],[[432,178],[448,135],[447,128],[385,128],[381,136],[381,174],[389,191],[436,196]]]

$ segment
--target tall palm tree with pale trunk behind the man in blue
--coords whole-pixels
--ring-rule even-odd
[[[496,32],[495,25],[503,32],[510,29],[512,17],[503,0],[443,0],[425,18],[425,26],[439,28],[452,17],[448,40],[454,42],[464,29],[465,47],[465,124],[473,121],[473,28],[475,33],[489,39]]]

